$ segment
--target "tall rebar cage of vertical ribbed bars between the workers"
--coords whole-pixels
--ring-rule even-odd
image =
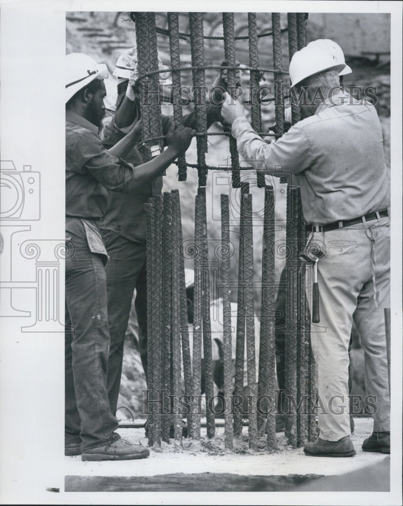
[[[136,23],[136,43],[138,51],[138,81],[141,83],[141,115],[143,128],[143,153],[145,159],[163,149],[162,117],[159,100],[158,74],[166,72],[158,68],[157,33],[169,41],[170,66],[172,76],[172,95],[174,125],[183,120],[180,100],[181,80],[185,72],[192,72],[193,99],[197,131],[197,163],[188,164],[185,155],[177,160],[178,180],[187,178],[187,168],[198,171],[198,194],[195,199],[195,239],[194,239],[194,323],[193,348],[190,349],[184,255],[181,225],[180,195],[178,191],[165,192],[163,196],[150,198],[147,210],[147,276],[148,276],[148,357],[147,378],[151,399],[149,414],[149,444],[161,446],[161,440],[169,442],[169,424],[174,424],[175,445],[183,443],[182,417],[179,399],[182,395],[182,364],[185,397],[189,409],[189,440],[194,448],[200,448],[200,387],[201,353],[204,354],[204,375],[206,394],[206,426],[209,438],[215,435],[215,416],[209,409],[209,399],[214,397],[211,356],[210,322],[210,274],[208,262],[206,184],[208,170],[218,169],[206,164],[208,149],[206,114],[206,69],[226,69],[230,94],[236,93],[236,69],[249,72],[250,77],[250,118],[253,129],[262,134],[260,103],[257,100],[260,79],[264,72],[273,73],[274,96],[266,98],[275,104],[275,135],[284,133],[284,76],[282,33],[288,33],[289,59],[305,46],[305,26],[307,14],[288,13],[287,26],[281,28],[280,13],[271,14],[272,29],[258,33],[257,15],[247,14],[247,34],[235,35],[234,13],[222,13],[222,36],[205,35],[203,14],[189,13],[189,33],[180,31],[179,15],[167,13],[168,28],[157,26],[154,12],[131,12],[130,18]],[[262,14],[259,14],[261,16]],[[270,14],[265,13],[265,16]],[[219,14],[217,13],[217,16]],[[181,64],[183,53],[180,39],[189,40],[191,65]],[[223,42],[222,60],[226,64],[206,65],[204,43],[206,39]],[[244,39],[248,44],[249,65],[237,67],[235,41]],[[273,68],[259,66],[258,41],[272,41]],[[188,55],[186,55],[188,56]],[[292,122],[301,118],[298,107],[292,108]],[[217,133],[214,133],[217,135]],[[239,437],[247,418],[248,440],[251,449],[264,447],[273,451],[276,447],[275,428],[275,268],[274,268],[274,188],[266,184],[264,174],[258,174],[258,186],[264,188],[264,225],[262,237],[262,282],[260,310],[260,345],[258,378],[255,373],[255,329],[254,329],[254,291],[253,291],[253,217],[252,195],[249,184],[241,182],[240,171],[251,170],[240,166],[236,140],[224,126],[218,135],[229,137],[229,151],[232,173],[232,187],[240,188],[239,223],[239,264],[238,264],[238,313],[236,329],[235,388],[232,392],[232,335],[231,335],[231,269],[230,269],[230,220],[229,196],[221,195],[221,286],[223,302],[223,370],[224,370],[224,416],[225,445],[233,448],[234,436]],[[219,170],[223,170],[219,167]],[[312,407],[316,401],[315,363],[311,353],[309,331],[310,317],[305,298],[304,266],[298,260],[298,250],[305,242],[305,223],[302,216],[299,188],[287,179],[286,216],[286,287],[287,304],[285,317],[285,398],[288,399],[285,415],[285,434],[293,447],[302,446],[306,440],[316,435],[315,416]],[[302,247],[301,247],[302,245]],[[278,315],[277,315],[278,316]],[[234,399],[242,397],[244,374],[244,350],[246,340],[248,377],[248,415],[234,409]],[[161,392],[170,392],[169,398],[160,399]],[[257,409],[257,404],[265,399],[265,411]],[[153,402],[155,400],[155,402]],[[163,405],[165,409],[159,409]],[[171,411],[171,415],[166,415]],[[267,419],[267,421],[266,421]],[[267,432],[267,436],[265,436]]]

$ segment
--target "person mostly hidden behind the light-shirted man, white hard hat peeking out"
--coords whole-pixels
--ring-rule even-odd
[[[316,45],[321,46],[323,49],[328,51],[331,57],[334,59],[334,62],[337,65],[345,67],[339,72],[339,84],[340,88],[343,89],[343,76],[346,74],[351,74],[351,68],[346,65],[344,59],[344,53],[341,47],[330,39],[318,39],[315,41]],[[284,132],[288,132],[291,128],[292,118],[291,118],[291,107],[287,107],[284,111]],[[270,143],[272,141],[271,137],[267,137],[264,139],[266,143]],[[277,382],[279,386],[279,396],[278,396],[278,411],[279,413],[276,415],[276,427],[278,429],[282,428],[284,430],[284,411],[285,407],[285,399],[284,399],[284,389],[285,389],[285,331],[286,331],[286,305],[287,305],[287,267],[285,266],[280,275],[280,283],[279,290],[276,298],[276,320],[275,320],[275,340],[276,340],[276,373],[277,373]],[[348,352],[350,352],[352,346],[352,338],[350,339]],[[348,392],[351,393],[351,365],[348,367]],[[350,413],[350,430],[351,433],[354,432],[354,419],[352,414]]]

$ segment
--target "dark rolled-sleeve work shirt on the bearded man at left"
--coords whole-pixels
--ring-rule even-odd
[[[67,217],[101,218],[108,203],[107,189],[128,193],[133,174],[133,165],[104,148],[97,126],[66,111]]]

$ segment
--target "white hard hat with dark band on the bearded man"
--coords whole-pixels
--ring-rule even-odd
[[[94,79],[107,79],[108,67],[82,53],[66,55],[66,103]]]

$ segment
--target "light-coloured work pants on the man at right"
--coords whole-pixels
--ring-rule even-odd
[[[320,323],[311,325],[320,437],[338,441],[350,434],[348,343],[353,319],[365,354],[366,395],[372,396],[369,404],[375,405],[374,431],[389,431],[384,319],[384,308],[390,307],[389,218],[315,232],[311,242],[322,244],[326,251],[318,262]],[[307,286],[312,286],[312,268],[310,274]]]

